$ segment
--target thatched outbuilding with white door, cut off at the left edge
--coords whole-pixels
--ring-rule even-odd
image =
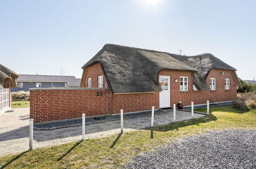
[[[0,113],[11,107],[11,89],[17,87],[18,75],[0,64]]]

